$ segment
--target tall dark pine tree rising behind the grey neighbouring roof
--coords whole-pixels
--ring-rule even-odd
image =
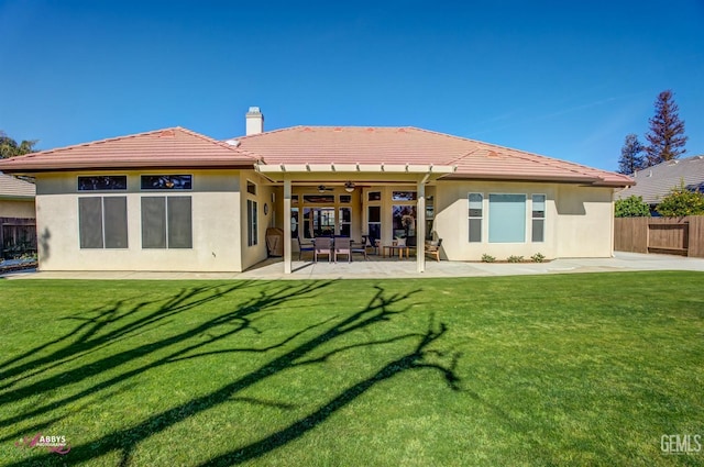
[[[671,90],[662,91],[656,100],[656,114],[650,122],[650,132],[646,138],[650,143],[646,147],[648,166],[678,158],[685,153],[684,120],[680,120],[680,108],[674,102]]]

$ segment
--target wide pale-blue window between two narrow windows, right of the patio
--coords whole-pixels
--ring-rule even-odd
[[[488,196],[488,241],[491,243],[526,242],[526,196]]]

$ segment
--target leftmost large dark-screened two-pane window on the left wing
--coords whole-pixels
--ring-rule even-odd
[[[127,248],[127,197],[78,198],[78,231],[81,248]]]

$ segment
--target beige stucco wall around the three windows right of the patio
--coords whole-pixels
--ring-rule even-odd
[[[482,242],[469,242],[468,193],[484,196]],[[526,242],[488,242],[488,194],[526,194]],[[546,194],[544,241],[532,243],[531,194]],[[483,254],[497,259],[510,255],[528,259],[536,253],[547,258],[608,257],[613,254],[613,189],[566,184],[502,181],[439,181],[436,191],[435,236],[442,238],[441,257],[479,260]]]

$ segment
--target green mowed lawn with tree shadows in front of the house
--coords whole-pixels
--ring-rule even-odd
[[[704,465],[703,286],[0,280],[0,465]]]

